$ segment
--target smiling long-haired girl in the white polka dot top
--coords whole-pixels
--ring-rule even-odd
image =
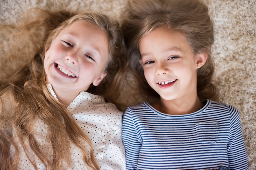
[[[31,62],[0,80],[1,169],[125,169],[122,112],[112,104],[124,72],[119,24],[95,12],[31,16],[5,27],[38,29],[45,40]]]

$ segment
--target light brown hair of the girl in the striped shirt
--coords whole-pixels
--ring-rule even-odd
[[[193,53],[208,54],[206,63],[197,70],[197,93],[200,100],[217,100],[218,90],[213,85],[214,61],[211,46],[214,42],[213,22],[208,7],[200,0],[132,0],[128,2],[121,29],[128,49],[132,72],[142,96],[159,95],[148,85],[139,63],[139,41],[155,29],[167,28],[182,33]],[[145,97],[146,98],[146,97]]]

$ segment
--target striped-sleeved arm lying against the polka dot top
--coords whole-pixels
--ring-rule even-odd
[[[126,167],[128,170],[136,170],[141,148],[135,123],[129,108],[124,113],[122,137],[126,151]]]

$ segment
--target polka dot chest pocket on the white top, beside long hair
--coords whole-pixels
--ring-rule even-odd
[[[94,126],[83,125],[84,133],[91,139],[96,160],[102,160],[107,142],[107,131]]]

